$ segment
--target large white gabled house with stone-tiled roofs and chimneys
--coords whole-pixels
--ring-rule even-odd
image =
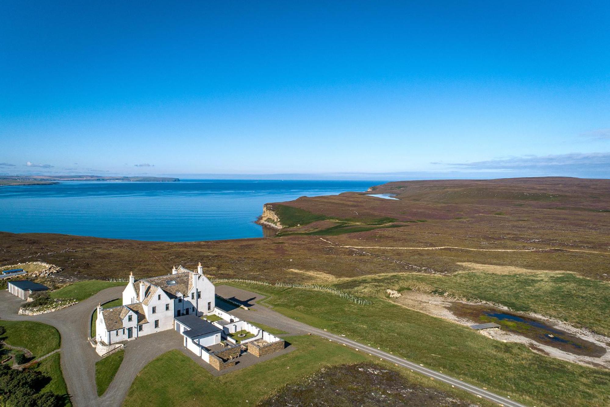
[[[197,271],[179,266],[172,274],[135,281],[123,290],[123,305],[98,306],[96,340],[105,345],[174,328],[174,317],[207,315],[215,308],[214,285]]]

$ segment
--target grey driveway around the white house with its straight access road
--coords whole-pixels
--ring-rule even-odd
[[[202,365],[204,368],[207,367],[204,366],[205,362],[203,360],[195,358],[193,354],[182,347],[182,337],[173,330],[144,336],[127,343],[123,363],[121,364],[117,375],[112,383],[110,383],[110,386],[104,395],[98,397],[95,386],[95,363],[101,358],[95,353],[95,350],[87,340],[91,326],[91,312],[93,312],[93,309],[95,309],[98,303],[105,303],[106,301],[120,297],[122,290],[123,287],[106,288],[106,290],[102,290],[96,295],[91,296],[74,306],[50,312],[49,314],[35,316],[17,315],[17,310],[21,304],[23,304],[23,301],[7,291],[0,292],[0,318],[12,321],[38,321],[52,325],[59,331],[62,337],[60,350],[62,353],[61,364],[63,377],[68,386],[68,392],[70,392],[73,405],[76,407],[116,407],[121,405],[129,391],[129,387],[131,387],[131,383],[140,370],[153,359],[157,358],[157,356],[169,350],[181,350],[193,361]],[[250,305],[255,304],[256,301],[259,301],[262,298],[262,296],[257,295],[256,293],[240,290],[239,288],[230,287],[228,285],[217,287],[217,293],[226,298],[235,298],[239,301],[247,302]],[[480,387],[472,386],[463,381],[451,378],[450,376],[409,362],[406,359],[398,358],[397,356],[384,351],[355,342],[346,337],[313,328],[312,326],[292,320],[272,309],[260,306],[259,304],[255,304],[251,310],[246,311],[241,308],[235,308],[229,312],[243,320],[252,321],[254,323],[259,322],[273,328],[282,329],[289,334],[312,333],[326,339],[334,340],[338,343],[345,343],[345,345],[357,348],[359,351],[374,354],[379,358],[386,359],[387,361],[401,365],[407,369],[412,369],[423,375],[433,377],[435,380],[452,384],[459,389],[487,398],[487,400],[491,400],[500,405],[507,407],[523,407],[523,405],[513,402],[509,398],[501,397],[500,395],[493,394]],[[174,380],[176,377],[178,376],[176,376],[174,372],[168,372],[168,380]]]

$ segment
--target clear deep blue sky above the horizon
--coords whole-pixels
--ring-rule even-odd
[[[610,177],[609,18],[607,1],[3,1],[0,174]]]

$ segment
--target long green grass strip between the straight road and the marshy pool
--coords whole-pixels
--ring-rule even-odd
[[[239,284],[290,318],[392,351],[527,405],[610,403],[610,372],[533,353],[465,326],[378,299],[359,306],[321,292]]]

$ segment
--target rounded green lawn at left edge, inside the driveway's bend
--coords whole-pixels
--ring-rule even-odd
[[[9,345],[26,348],[32,352],[34,358],[59,349],[59,332],[51,325],[33,321],[0,320],[0,326],[6,329],[2,340]]]

